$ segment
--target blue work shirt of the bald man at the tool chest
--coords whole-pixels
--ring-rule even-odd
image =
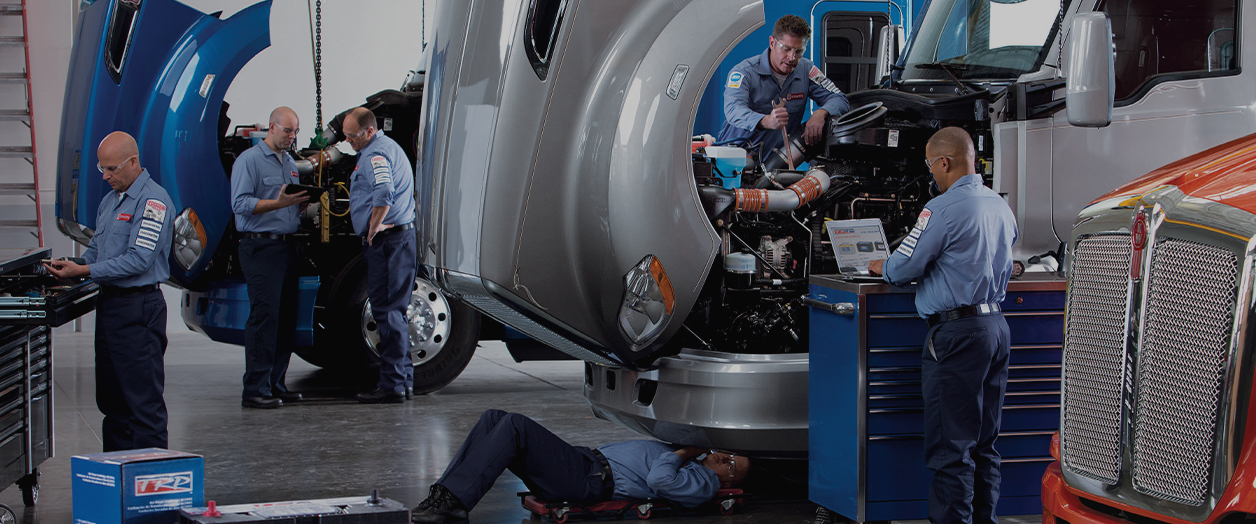
[[[139,172],[127,192],[104,195],[95,211],[95,234],[83,253],[92,280],[134,288],[168,279],[173,206],[148,170]]]

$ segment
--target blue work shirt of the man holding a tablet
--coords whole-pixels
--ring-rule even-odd
[[[275,200],[285,183],[300,183],[296,162],[284,152],[275,152],[266,142],[240,153],[231,166],[231,211],[240,232],[274,232],[290,235],[300,226],[300,206],[288,206],[254,215],[260,200]]]

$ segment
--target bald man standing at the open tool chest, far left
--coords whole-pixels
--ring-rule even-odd
[[[166,298],[170,278],[170,195],[139,166],[136,139],[109,133],[97,148],[97,168],[113,187],[100,200],[87,265],[46,263],[60,278],[90,276],[95,305],[95,405],[104,415],[104,451],[167,447]]]

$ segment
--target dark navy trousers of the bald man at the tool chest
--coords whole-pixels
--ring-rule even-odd
[[[95,303],[95,406],[104,451],[167,447],[166,298],[161,290]]]

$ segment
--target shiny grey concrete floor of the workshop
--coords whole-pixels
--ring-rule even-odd
[[[177,324],[172,324],[177,325]],[[89,333],[54,338],[57,456],[40,466],[40,499],[23,508],[8,486],[0,503],[21,523],[72,523],[69,459],[100,451]],[[353,400],[373,377],[345,377],[293,358],[288,385],[309,401],[275,411],[240,407],[244,349],[173,330],[166,354],[170,446],[205,456],[205,495],[220,505],[381,495],[418,504],[443,472],[462,437],[486,408],[525,413],[568,442],[584,446],[639,439],[594,418],[580,391],[583,363],[514,362],[500,342],[486,342],[448,387],[404,405],[363,406]],[[744,513],[683,518],[686,523],[811,523],[803,461],[756,461],[754,493]],[[506,472],[471,513],[471,521],[533,523],[519,504],[522,483]],[[629,519],[633,521],[636,519]],[[654,516],[652,521],[682,518]],[[1005,518],[1005,524],[1040,516]]]

